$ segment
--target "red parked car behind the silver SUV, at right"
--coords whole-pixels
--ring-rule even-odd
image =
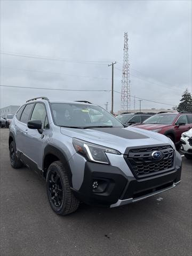
[[[164,134],[177,145],[180,142],[181,133],[192,128],[192,112],[159,113],[133,126]]]

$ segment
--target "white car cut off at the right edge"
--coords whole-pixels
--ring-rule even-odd
[[[192,159],[192,129],[181,134],[180,150],[186,158]]]

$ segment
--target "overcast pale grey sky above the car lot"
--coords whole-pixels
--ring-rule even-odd
[[[125,31],[131,95],[177,105],[186,88],[191,92],[191,1],[1,0],[1,85],[111,90],[108,63],[117,61],[114,90],[121,92]],[[111,103],[110,91],[0,90],[0,107],[39,95],[102,107],[109,102],[109,109]],[[135,105],[139,108],[138,99]],[[121,94],[115,92],[114,110],[120,106]],[[145,100],[141,107],[172,108]]]

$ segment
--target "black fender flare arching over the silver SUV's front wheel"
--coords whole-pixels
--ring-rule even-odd
[[[70,166],[69,166],[69,163],[67,161],[67,155],[63,152],[61,152],[60,149],[52,146],[52,145],[47,145],[44,149],[44,155],[43,155],[43,164],[42,164],[42,170],[43,172],[45,172],[45,166],[44,166],[44,163],[45,163],[45,157],[49,154],[52,154],[54,155],[55,157],[59,158],[59,160],[61,161],[61,163],[63,164],[63,166],[65,166],[66,168],[66,171],[67,171],[67,174],[68,174],[68,179],[69,179],[69,184],[71,187],[72,186],[72,172],[71,172],[71,169],[70,169]],[[45,177],[45,174],[44,174],[44,177]],[[46,177],[45,177],[46,178]]]

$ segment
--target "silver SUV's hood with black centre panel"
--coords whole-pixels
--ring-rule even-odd
[[[77,138],[118,150],[124,154],[127,147],[160,145],[170,140],[162,134],[143,131],[132,126],[126,128],[94,128],[73,129],[61,127],[61,133],[71,138]]]

